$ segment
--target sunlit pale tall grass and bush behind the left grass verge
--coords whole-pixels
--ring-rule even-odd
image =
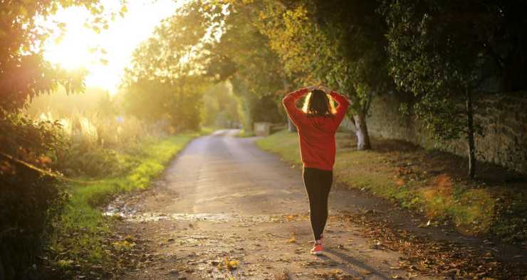
[[[118,176],[130,168],[120,151],[134,149],[145,139],[164,136],[167,124],[148,126],[135,117],[117,117],[101,112],[78,112],[59,117],[46,112],[40,119],[61,123],[65,141],[57,154],[55,168],[68,177],[103,178]]]

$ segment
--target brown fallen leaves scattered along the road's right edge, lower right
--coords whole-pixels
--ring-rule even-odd
[[[523,279],[527,268],[521,264],[501,262],[491,252],[479,253],[467,244],[452,241],[436,241],[418,236],[409,230],[395,230],[382,219],[375,219],[369,213],[343,212],[340,219],[364,227],[362,235],[373,240],[372,248],[386,248],[401,252],[398,267],[429,275],[455,276],[456,278]],[[455,273],[454,273],[455,272]]]

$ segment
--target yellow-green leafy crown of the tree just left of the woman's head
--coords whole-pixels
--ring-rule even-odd
[[[230,79],[238,95],[261,97],[283,91],[283,65],[268,48],[268,38],[254,26],[255,11],[245,5],[229,5],[226,9],[219,42],[207,46],[211,53],[207,74],[218,80]]]

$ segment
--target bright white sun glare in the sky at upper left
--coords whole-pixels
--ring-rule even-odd
[[[120,1],[104,1],[109,11],[120,9]],[[45,57],[51,63],[66,69],[85,68],[88,87],[102,87],[115,94],[122,71],[130,63],[137,45],[146,40],[163,18],[174,14],[184,1],[129,0],[127,13],[110,21],[108,29],[96,33],[85,27],[90,13],[83,8],[70,8],[48,18],[66,23],[66,33],[61,41],[51,38],[45,46]]]

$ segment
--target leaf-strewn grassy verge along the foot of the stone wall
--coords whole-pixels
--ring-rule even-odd
[[[350,134],[338,133],[335,178],[432,220],[452,222],[465,235],[491,234],[526,246],[526,179],[480,163],[480,178],[466,181],[465,160],[400,142],[372,139],[373,151],[356,151]],[[298,136],[280,131],[259,146],[300,164]]]

